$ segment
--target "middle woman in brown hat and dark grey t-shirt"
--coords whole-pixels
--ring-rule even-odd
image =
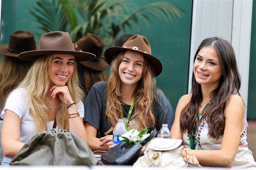
[[[125,119],[130,129],[155,126],[160,130],[162,124],[171,128],[172,106],[155,87],[155,76],[161,73],[162,64],[151,55],[148,40],[134,35],[123,47],[107,49],[105,58],[111,65],[108,82],[96,83],[84,103],[90,148],[94,151],[112,148],[113,129],[120,118]],[[97,138],[97,131],[102,138]]]

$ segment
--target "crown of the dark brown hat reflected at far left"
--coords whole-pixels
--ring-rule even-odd
[[[32,32],[19,30],[11,33],[8,50],[15,53],[36,50],[36,41]]]

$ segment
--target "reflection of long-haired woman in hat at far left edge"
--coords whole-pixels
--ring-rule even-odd
[[[5,97],[24,79],[31,62],[20,60],[21,52],[36,50],[36,41],[30,31],[15,31],[11,33],[9,44],[0,45],[0,110],[4,105]]]

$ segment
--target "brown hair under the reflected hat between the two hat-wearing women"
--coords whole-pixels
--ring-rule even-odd
[[[82,72],[80,75],[80,82],[83,85],[86,95],[89,94],[95,83],[108,81],[108,77],[103,71],[93,70],[82,64],[79,64],[79,66],[80,68],[78,69],[78,72]]]

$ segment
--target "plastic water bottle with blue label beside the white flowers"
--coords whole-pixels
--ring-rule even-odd
[[[119,119],[117,122],[117,125],[115,126],[113,130],[113,147],[118,145],[119,143],[123,142],[119,140],[118,135],[123,135],[126,133],[125,125],[123,123],[123,120]]]

